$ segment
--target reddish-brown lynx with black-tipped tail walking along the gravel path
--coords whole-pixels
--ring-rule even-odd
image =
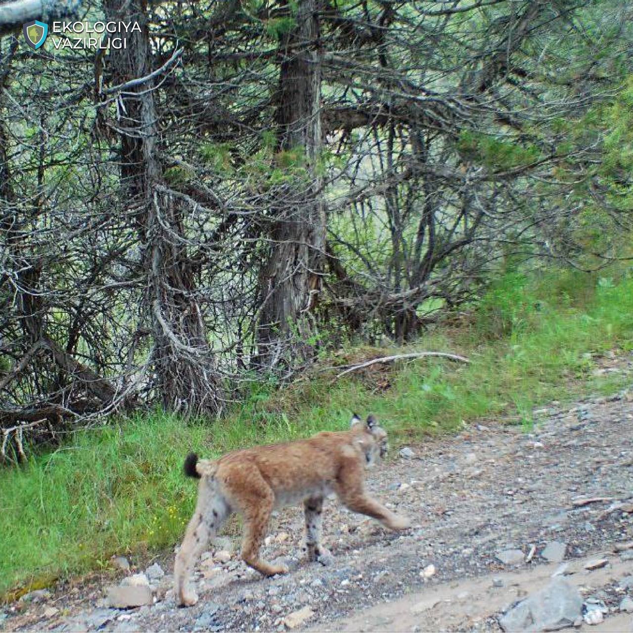
[[[321,543],[323,498],[335,492],[349,510],[376,518],[392,530],[410,527],[408,518],[388,510],[364,490],[365,467],[387,452],[387,433],[373,415],[351,429],[322,432],[287,444],[257,446],[228,453],[216,461],[185,459],[189,477],[200,479],[196,511],[176,557],[175,594],[180,605],[197,602],[189,577],[208,539],[230,513],[244,518],[242,560],[265,576],[287,573],[285,565],[260,558],[260,545],[274,508],[303,502],[309,560],[327,564],[332,556]]]

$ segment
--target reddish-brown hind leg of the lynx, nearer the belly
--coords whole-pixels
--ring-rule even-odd
[[[266,536],[270,515],[275,505],[275,494],[256,467],[242,469],[235,490],[227,482],[227,492],[234,499],[244,517],[244,539],[242,541],[242,560],[264,576],[287,573],[285,565],[272,565],[260,558],[261,542]],[[237,486],[239,485],[239,489]]]

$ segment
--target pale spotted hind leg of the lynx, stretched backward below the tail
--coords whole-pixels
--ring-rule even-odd
[[[203,478],[196,511],[187,525],[173,570],[175,596],[179,605],[196,604],[197,594],[189,584],[191,573],[207,542],[215,536],[228,515],[229,505],[217,490],[215,482]]]

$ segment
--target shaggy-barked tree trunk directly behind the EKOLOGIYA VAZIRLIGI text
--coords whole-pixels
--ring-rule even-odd
[[[133,1],[125,15],[118,0],[104,4],[108,20],[137,21],[142,30],[123,35],[122,29],[127,48],[110,51],[113,84],[146,77],[153,68],[144,3]],[[197,303],[184,210],[164,186],[156,156],[160,138],[155,90],[153,80],[146,80],[122,94],[116,126],[122,130],[123,199],[139,209],[136,223],[147,275],[143,314],[153,337],[154,387],[167,410],[215,415],[222,410],[222,387]]]

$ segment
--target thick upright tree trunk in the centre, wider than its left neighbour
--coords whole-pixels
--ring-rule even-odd
[[[305,178],[289,182],[272,204],[270,251],[260,273],[260,367],[292,367],[314,354],[310,312],[322,287],[325,253],[325,205],[317,164],[322,144],[318,11],[319,0],[300,0],[295,27],[281,37],[278,149],[298,152]]]

